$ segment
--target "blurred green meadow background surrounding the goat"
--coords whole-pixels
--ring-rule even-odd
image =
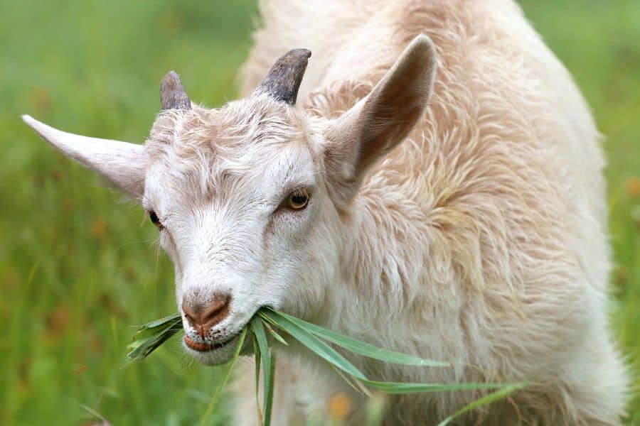
[[[607,136],[612,327],[640,373],[640,2],[523,0]],[[254,1],[0,0],[0,423],[185,425],[220,372],[178,339],[123,365],[132,324],[176,309],[156,229],[19,118],[144,141],[175,69],[196,102],[235,97]],[[637,395],[627,421],[640,425]],[[223,425],[230,404],[210,417]]]

